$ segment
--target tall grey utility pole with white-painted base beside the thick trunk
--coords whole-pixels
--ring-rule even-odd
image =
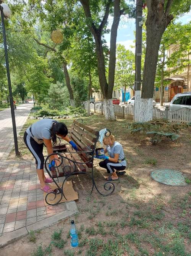
[[[141,104],[142,0],[136,0],[134,121],[139,121]]]

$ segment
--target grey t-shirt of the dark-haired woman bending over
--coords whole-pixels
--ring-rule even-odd
[[[36,123],[32,124],[31,131],[34,137],[37,139],[50,139],[50,129],[52,127],[53,122],[56,122],[53,119],[42,119],[37,121]],[[29,127],[30,128],[30,127]],[[26,132],[32,137],[29,128]]]

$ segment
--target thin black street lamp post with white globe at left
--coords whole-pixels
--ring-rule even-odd
[[[9,61],[8,61],[8,53],[7,53],[7,46],[6,46],[5,22],[4,22],[4,18],[10,16],[10,9],[8,8],[7,5],[3,4],[3,0],[0,0],[0,12],[1,12],[1,22],[2,22],[2,30],[3,30],[6,72],[7,72],[7,80],[8,80],[8,87],[9,87],[9,99],[10,99],[10,106],[11,106],[11,117],[12,117],[12,124],[13,124],[13,136],[14,136],[14,142],[15,142],[15,154],[16,156],[18,156],[20,153],[18,149],[18,140],[17,140],[17,134],[16,134],[15,111],[13,106],[13,96],[12,96],[12,89],[11,89],[11,78],[10,78]]]

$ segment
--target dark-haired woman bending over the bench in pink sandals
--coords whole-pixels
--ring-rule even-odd
[[[24,143],[36,160],[37,174],[41,184],[40,189],[46,193],[52,191],[46,183],[51,183],[53,180],[51,178],[46,178],[44,175],[43,145],[46,145],[48,154],[52,154],[52,142],[53,145],[55,145],[58,136],[69,142],[75,150],[78,150],[76,144],[67,136],[67,134],[68,128],[66,125],[52,119],[42,119],[32,124],[24,133]],[[52,155],[50,160],[55,158],[55,155]]]

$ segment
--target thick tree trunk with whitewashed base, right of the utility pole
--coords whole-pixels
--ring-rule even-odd
[[[159,46],[165,28],[168,26],[173,16],[169,15],[172,0],[168,0],[164,10],[164,0],[147,0],[147,21],[146,21],[146,55],[144,60],[144,69],[141,89],[140,122],[152,120],[153,110],[153,92],[155,73],[157,68],[157,59]]]

